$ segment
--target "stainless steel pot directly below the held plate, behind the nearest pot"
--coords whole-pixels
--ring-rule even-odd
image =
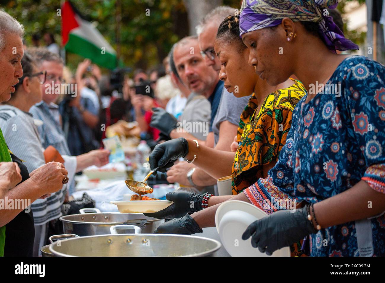
[[[133,219],[146,219],[147,223],[141,227],[142,233],[154,233],[155,229],[164,222],[164,219],[148,217],[143,213],[103,213],[96,208],[85,208],[80,210],[80,212],[82,213],[59,218],[63,222],[65,234],[76,234],[79,236],[105,235],[110,233],[111,226]]]

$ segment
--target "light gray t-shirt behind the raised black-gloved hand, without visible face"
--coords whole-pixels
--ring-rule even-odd
[[[178,126],[199,140],[206,140],[210,128],[210,119],[210,102],[203,95],[191,93],[187,98],[186,107],[179,117]]]

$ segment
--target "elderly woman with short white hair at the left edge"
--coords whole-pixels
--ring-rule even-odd
[[[24,54],[23,33],[23,26],[0,10],[0,102],[10,99],[14,85],[23,76],[20,63]],[[22,179],[5,195],[6,204],[14,203],[15,206],[0,209],[0,256],[31,256],[35,230],[29,205],[60,190],[68,181],[68,172],[63,164],[49,162],[28,174],[22,161],[8,150],[0,129],[0,162],[10,161],[18,164]],[[26,213],[20,213],[23,210]]]

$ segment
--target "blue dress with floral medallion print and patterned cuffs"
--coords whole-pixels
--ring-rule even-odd
[[[360,180],[385,193],[384,82],[383,65],[362,56],[343,60],[330,88],[298,102],[275,167],[244,191],[251,203],[273,213],[285,209],[277,200],[316,203]],[[385,256],[385,216],[331,226],[310,238],[312,256]]]

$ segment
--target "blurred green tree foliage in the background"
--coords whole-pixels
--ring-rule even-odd
[[[186,0],[72,0],[74,6],[102,33],[126,66],[149,68],[162,62],[172,45],[189,34]],[[189,0],[191,1],[191,0]],[[193,0],[205,1],[208,0]],[[342,11],[348,0],[342,0]],[[363,0],[359,1],[364,2]],[[197,3],[198,4],[198,3]],[[240,8],[240,0],[223,0],[224,5]],[[199,5],[199,4],[198,4]],[[2,4],[6,12],[25,27],[25,41],[32,44],[34,33],[54,33],[61,43],[59,0],[9,0]],[[191,11],[190,11],[191,12]],[[119,20],[120,19],[120,20]],[[345,24],[346,26],[346,24]],[[360,44],[365,33],[347,32],[346,37]],[[44,42],[41,40],[41,45]],[[67,65],[74,69],[81,58],[67,54]]]

